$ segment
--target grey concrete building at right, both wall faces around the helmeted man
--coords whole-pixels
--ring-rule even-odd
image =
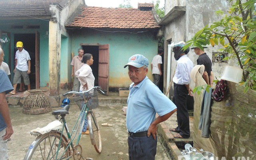
[[[167,53],[168,53],[168,42],[167,40],[172,40],[172,42],[177,42],[180,40],[188,41],[198,32],[198,30],[204,28],[207,25],[211,25],[213,22],[220,20],[219,16],[215,14],[216,11],[222,10],[227,13],[227,8],[229,4],[226,1],[217,1],[217,0],[165,0],[165,14],[167,14],[174,6],[186,6],[186,13],[180,17],[172,20],[169,24],[165,26],[165,69],[167,72]],[[206,5],[207,4],[207,5]],[[218,46],[209,46],[205,49],[206,54],[212,60],[212,52],[217,52],[219,49]],[[198,56],[194,53],[194,50],[190,50],[188,57],[192,60],[194,65],[196,65],[196,60]],[[230,64],[235,64],[233,60],[229,62]],[[176,60],[172,56],[172,68],[171,75],[174,74],[174,68],[176,65]],[[220,77],[224,66],[228,65],[227,63],[212,63],[212,70],[214,72],[214,78]],[[164,75],[164,88],[166,89],[166,76]],[[194,84],[192,83],[192,86]],[[171,93],[172,94],[172,93]]]

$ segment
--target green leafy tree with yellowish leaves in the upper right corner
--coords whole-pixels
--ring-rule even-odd
[[[256,90],[256,16],[255,0],[229,0],[232,3],[229,15],[217,11],[220,21],[199,30],[184,49],[191,45],[202,49],[202,45],[222,45],[220,51],[228,52],[230,58],[236,58],[243,69],[243,80],[247,92]]]

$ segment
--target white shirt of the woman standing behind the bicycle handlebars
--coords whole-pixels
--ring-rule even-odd
[[[80,81],[80,90],[86,91],[94,87],[94,76],[92,74],[92,68],[88,64],[84,64],[79,70],[76,71],[76,77]],[[83,88],[87,83],[88,88]]]

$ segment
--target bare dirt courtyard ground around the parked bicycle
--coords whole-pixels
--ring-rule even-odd
[[[100,106],[95,109],[98,124],[100,125],[102,137],[102,152],[98,154],[91,145],[89,135],[82,135],[80,145],[82,146],[82,155],[84,158],[90,157],[94,160],[128,160],[128,144],[126,119],[122,114],[123,106]],[[28,133],[28,131],[37,127],[44,127],[48,123],[54,121],[51,112],[39,115],[27,115],[22,113],[21,106],[9,106],[10,116],[14,134],[11,141],[8,142],[9,160],[23,160],[30,144],[36,138]],[[60,108],[54,108],[57,110]],[[69,115],[66,116],[68,127],[73,127],[76,118],[80,114],[80,110],[76,104],[72,104]],[[113,126],[101,126],[102,123],[110,123]],[[158,149],[156,160],[170,160],[166,154],[164,147],[158,140]]]

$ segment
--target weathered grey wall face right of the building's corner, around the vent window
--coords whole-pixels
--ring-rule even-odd
[[[229,4],[227,1],[207,1],[202,5],[199,0],[190,0],[186,4],[186,40],[190,40],[198,30],[204,28],[205,26],[210,26],[213,22],[220,20],[219,16],[215,14],[216,11],[222,10],[227,13],[227,8]],[[193,26],[193,27],[191,27]],[[220,46],[221,47],[221,46]],[[208,46],[204,51],[212,60],[212,52],[218,52],[220,48],[218,46]],[[194,50],[191,50],[189,54],[192,54],[192,62],[196,64],[198,56],[194,53]],[[212,63],[212,70],[214,72],[214,78],[220,77],[224,67],[228,65],[227,63]]]

